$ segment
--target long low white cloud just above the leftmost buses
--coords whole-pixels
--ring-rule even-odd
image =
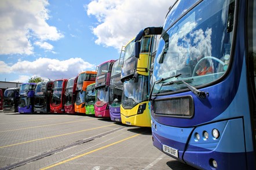
[[[19,61],[12,66],[8,66],[5,62],[0,61],[0,74],[1,73],[19,73],[20,76],[24,75],[19,82],[25,82],[25,76],[29,78],[37,76],[45,80],[56,80],[58,78],[71,78],[75,77],[78,73],[85,70],[95,70],[96,66],[83,61],[82,58],[70,58],[60,61],[58,59],[38,58],[35,61]],[[27,80],[29,79],[27,78]],[[17,80],[16,80],[17,81]]]

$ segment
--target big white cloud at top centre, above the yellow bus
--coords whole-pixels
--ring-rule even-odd
[[[95,16],[96,44],[120,49],[145,27],[163,25],[169,6],[175,0],[93,0],[87,6],[88,16]]]

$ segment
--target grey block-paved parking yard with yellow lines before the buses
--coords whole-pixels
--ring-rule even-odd
[[[86,115],[0,112],[0,169],[193,169],[152,145],[151,129]]]

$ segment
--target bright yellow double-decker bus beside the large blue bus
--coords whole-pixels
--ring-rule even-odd
[[[153,52],[156,51],[156,36],[144,36],[140,40],[140,55],[134,55],[134,39],[125,46],[121,71],[123,82],[120,106],[123,124],[151,127],[149,113],[149,75]]]

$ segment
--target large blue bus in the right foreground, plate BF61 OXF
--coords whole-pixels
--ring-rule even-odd
[[[138,34],[161,35],[149,95],[156,148],[199,169],[256,169],[255,21],[253,0],[177,1],[162,28]]]

